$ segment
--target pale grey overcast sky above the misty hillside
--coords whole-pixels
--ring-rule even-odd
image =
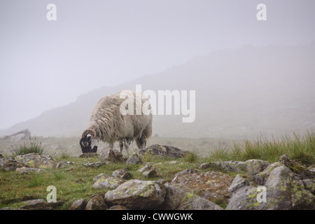
[[[258,3],[267,21],[257,20]],[[214,50],[310,43],[314,8],[314,0],[1,0],[0,129]]]

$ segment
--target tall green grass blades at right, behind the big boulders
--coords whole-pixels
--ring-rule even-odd
[[[303,165],[315,163],[315,132],[305,134],[293,133],[293,137],[286,135],[281,139],[272,140],[259,137],[255,141],[245,139],[243,144],[233,144],[232,149],[218,148],[211,152],[207,160],[237,160],[251,159],[276,162],[279,156],[287,154],[290,159],[296,160]]]

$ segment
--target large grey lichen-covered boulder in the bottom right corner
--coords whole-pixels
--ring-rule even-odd
[[[279,161],[258,174],[237,175],[229,188],[232,197],[226,209],[314,209],[315,179],[304,179],[311,175],[308,169],[286,155]],[[263,193],[260,187],[265,188]],[[263,195],[265,202],[259,200]]]

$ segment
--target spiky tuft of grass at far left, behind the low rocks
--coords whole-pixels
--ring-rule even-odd
[[[12,148],[11,152],[13,153],[13,156],[16,156],[16,155],[25,155],[29,153],[43,154],[45,146],[41,145],[41,141],[40,142],[36,141],[36,138],[32,140],[31,137],[29,137],[29,142],[24,142],[22,146],[18,146],[18,147],[11,146],[11,148]]]

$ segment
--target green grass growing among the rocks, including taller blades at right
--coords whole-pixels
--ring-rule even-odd
[[[31,139],[30,139],[31,140]],[[35,141],[36,142],[36,141]],[[37,146],[41,144],[36,143]],[[31,144],[29,144],[31,146]],[[175,145],[176,146],[176,145]],[[22,147],[21,147],[22,148]],[[185,148],[184,148],[185,149]],[[215,151],[207,156],[197,155],[196,151],[188,153],[185,158],[177,159],[153,156],[150,153],[142,158],[144,164],[126,165],[125,163],[110,163],[101,167],[85,167],[83,163],[98,162],[99,158],[78,158],[67,152],[60,152],[53,156],[55,162],[69,161],[73,165],[66,165],[59,169],[45,169],[41,173],[18,174],[18,172],[4,172],[0,169],[0,208],[20,207],[23,201],[31,199],[46,199],[49,192],[48,186],[57,188],[57,200],[64,201],[62,207],[57,209],[69,209],[71,204],[79,199],[90,200],[92,195],[106,193],[109,189],[92,188],[93,179],[101,173],[112,174],[116,169],[126,169],[132,174],[132,179],[172,181],[174,175],[183,169],[198,169],[203,162],[218,160],[249,160],[260,159],[268,162],[276,162],[284,153],[303,165],[314,165],[315,163],[315,132],[305,134],[293,134],[293,137],[285,136],[280,139],[268,140],[262,137],[249,141],[245,139],[242,143],[235,143],[232,148],[226,144],[219,144]],[[146,163],[153,162],[158,176],[147,178],[138,169]],[[209,170],[211,170],[209,168]],[[208,169],[202,172],[207,172]],[[228,173],[236,176],[234,173]]]

